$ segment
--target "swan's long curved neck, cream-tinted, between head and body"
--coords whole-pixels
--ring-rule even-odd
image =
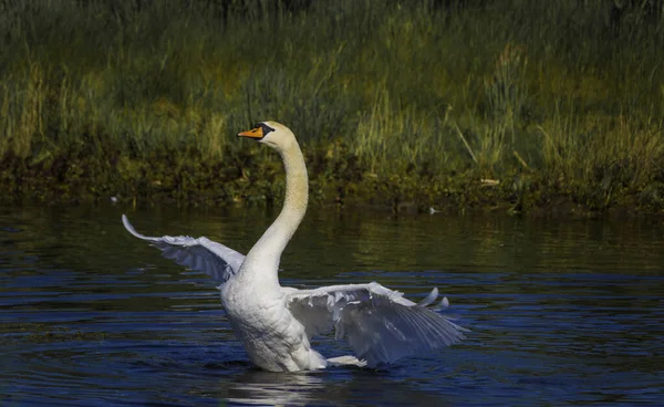
[[[286,199],[279,217],[253,244],[242,265],[242,274],[257,274],[264,283],[279,284],[277,271],[281,253],[307,212],[309,179],[298,143],[279,150],[286,168]],[[247,276],[247,275],[243,275]]]

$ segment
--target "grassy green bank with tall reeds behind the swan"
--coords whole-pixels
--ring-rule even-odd
[[[655,1],[0,1],[4,198],[664,210]]]

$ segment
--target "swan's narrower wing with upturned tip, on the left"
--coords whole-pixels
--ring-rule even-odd
[[[245,261],[245,254],[205,237],[198,239],[188,236],[152,238],[138,233],[124,215],[122,222],[129,233],[138,239],[147,240],[162,250],[162,254],[166,259],[175,260],[176,263],[191,270],[204,272],[221,283],[237,273]]]

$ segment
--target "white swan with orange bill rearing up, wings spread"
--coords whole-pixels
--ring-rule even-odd
[[[376,367],[464,338],[466,330],[436,312],[447,306],[447,299],[429,307],[437,289],[416,304],[375,282],[314,290],[282,288],[277,275],[281,252],[307,210],[304,158],[293,133],[279,123],[263,122],[238,136],[274,148],[286,167],[283,208],[247,257],[207,238],[146,237],[124,215],[122,220],[132,234],[152,242],[164,257],[221,281],[228,321],[253,364],[272,372],[333,364]],[[356,357],[325,359],[311,348],[311,336],[332,330],[338,340],[347,338]]]

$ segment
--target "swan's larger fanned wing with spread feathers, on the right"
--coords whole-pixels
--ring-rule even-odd
[[[419,304],[375,282],[284,290],[289,310],[308,335],[334,328],[335,337],[346,337],[370,367],[458,343],[467,331],[436,312],[447,306],[447,299],[428,306],[438,296],[437,289]]]

